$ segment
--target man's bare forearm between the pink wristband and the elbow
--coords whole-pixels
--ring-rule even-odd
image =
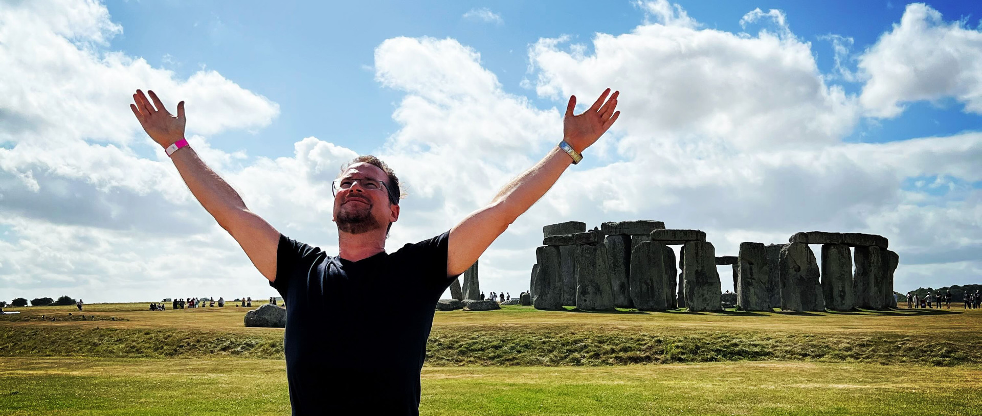
[[[246,203],[239,193],[208,168],[190,146],[174,152],[171,160],[194,198],[222,227],[225,227],[223,221],[230,213],[246,209]]]

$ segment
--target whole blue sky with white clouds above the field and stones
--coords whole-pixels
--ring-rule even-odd
[[[617,124],[481,257],[487,291],[527,289],[546,224],[635,219],[703,230],[718,255],[883,234],[898,290],[978,283],[980,18],[965,1],[8,2],[0,293],[275,294],[139,128],[136,88],[186,100],[202,160],[328,252],[330,181],[355,155],[409,184],[391,251],[539,160],[569,95],[621,90]]]

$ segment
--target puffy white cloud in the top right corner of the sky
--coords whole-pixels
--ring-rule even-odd
[[[859,101],[871,117],[897,117],[904,103],[945,97],[982,114],[982,31],[945,22],[925,4],[907,5],[900,24],[859,57],[858,67],[868,78]]]

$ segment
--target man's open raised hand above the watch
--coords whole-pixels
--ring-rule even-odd
[[[582,153],[584,149],[597,141],[614,122],[617,121],[620,111],[617,108],[617,97],[621,91],[614,91],[614,94],[607,99],[611,89],[607,88],[600,98],[590,106],[583,114],[573,115],[573,108],[576,107],[576,96],[570,96],[570,104],[566,106],[566,117],[563,118],[563,139],[573,146],[573,150]],[[606,101],[606,102],[605,102]]]

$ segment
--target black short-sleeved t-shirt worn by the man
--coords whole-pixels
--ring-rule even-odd
[[[450,233],[352,262],[280,234],[276,280],[294,415],[417,415]]]

